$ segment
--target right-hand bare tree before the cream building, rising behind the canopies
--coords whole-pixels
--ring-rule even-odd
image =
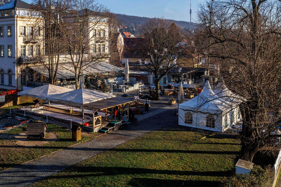
[[[108,60],[109,11],[92,0],[69,1],[67,14],[61,18],[64,36],[62,68],[75,74],[76,89],[80,79],[95,63]],[[84,80],[82,80],[84,81]]]

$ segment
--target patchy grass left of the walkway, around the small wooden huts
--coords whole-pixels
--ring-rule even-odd
[[[78,143],[71,140],[71,132],[68,129],[55,124],[47,124],[47,126],[46,134],[48,132],[55,133],[59,138],[58,141],[34,147],[26,147],[16,145],[15,140],[0,140],[0,171]],[[25,128],[26,125],[16,127],[1,134],[19,134],[24,132]],[[82,141],[90,138],[91,136],[81,137]]]

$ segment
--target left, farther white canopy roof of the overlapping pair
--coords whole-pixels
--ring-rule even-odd
[[[39,86],[36,88],[30,88],[25,91],[20,91],[17,94],[20,96],[29,96],[35,97],[38,99],[48,100],[48,97],[53,94],[62,94],[68,91],[72,91],[72,89],[64,88],[61,86],[55,86],[52,84],[46,84],[43,86]]]

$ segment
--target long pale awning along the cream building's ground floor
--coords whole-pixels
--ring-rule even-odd
[[[35,70],[36,72],[40,73],[45,77],[49,77],[49,71],[46,65],[36,65],[36,66],[34,65],[28,67]],[[87,75],[87,74],[94,74],[94,73],[110,73],[115,71],[123,71],[123,69],[115,65],[112,65],[110,63],[107,63],[105,61],[101,61],[101,62],[85,63],[83,74]],[[56,80],[74,78],[74,77],[75,77],[74,67],[71,63],[59,64]]]

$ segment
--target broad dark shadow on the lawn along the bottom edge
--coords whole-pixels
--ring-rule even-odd
[[[129,186],[221,186],[220,181],[192,181],[156,178],[132,178]]]

